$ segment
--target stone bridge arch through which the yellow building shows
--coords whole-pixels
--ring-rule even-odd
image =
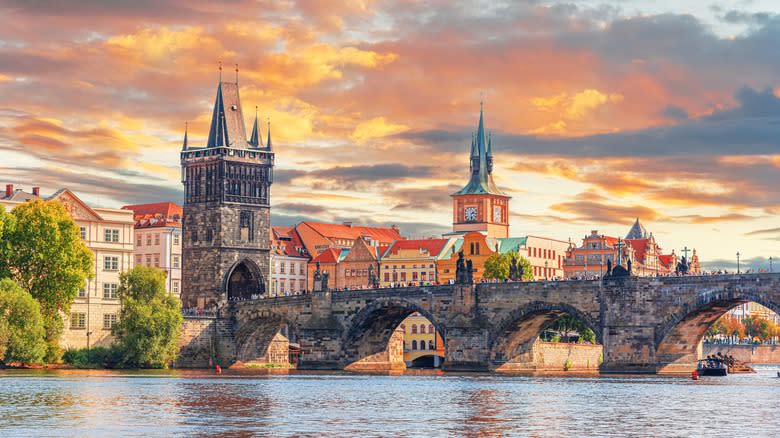
[[[343,368],[357,371],[385,371],[384,368],[396,371],[405,368],[403,350],[400,351],[400,357],[398,351],[391,351],[395,348],[391,344],[391,337],[401,322],[414,312],[433,324],[444,340],[446,351],[446,328],[431,312],[405,298],[383,298],[371,302],[345,321],[341,340]]]

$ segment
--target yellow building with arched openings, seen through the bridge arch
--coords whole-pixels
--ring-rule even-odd
[[[403,320],[401,330],[404,333],[404,362],[407,367],[441,365],[444,340],[427,318],[415,312]]]

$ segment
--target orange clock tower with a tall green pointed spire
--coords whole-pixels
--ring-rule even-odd
[[[479,231],[509,237],[509,199],[493,182],[493,142],[485,134],[482,104],[477,134],[471,139],[469,182],[452,194],[452,234]]]

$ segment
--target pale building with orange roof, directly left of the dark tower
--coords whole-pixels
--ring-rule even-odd
[[[126,205],[135,220],[135,265],[165,272],[165,291],[181,294],[182,208],[173,202]]]

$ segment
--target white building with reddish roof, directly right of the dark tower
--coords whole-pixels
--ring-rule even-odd
[[[295,230],[271,230],[271,296],[299,295],[306,291],[308,262],[306,249]]]

